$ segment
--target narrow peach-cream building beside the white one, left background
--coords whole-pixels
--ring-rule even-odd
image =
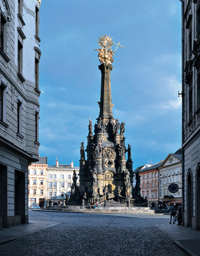
[[[28,170],[28,205],[44,207],[47,198],[47,157],[39,157],[39,161],[29,165]]]

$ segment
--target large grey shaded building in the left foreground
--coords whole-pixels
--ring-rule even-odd
[[[39,1],[0,1],[0,227],[28,222],[27,166],[39,159]]]

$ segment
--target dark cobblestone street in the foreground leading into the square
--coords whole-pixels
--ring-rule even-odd
[[[29,211],[30,221],[57,224],[0,245],[0,255],[186,255],[155,226],[168,218]]]

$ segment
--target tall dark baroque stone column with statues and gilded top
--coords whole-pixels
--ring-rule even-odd
[[[119,200],[131,198],[133,187],[133,161],[131,159],[131,145],[126,149],[124,128],[125,121],[119,123],[113,117],[113,103],[111,100],[111,71],[113,69],[113,55],[120,46],[116,44],[113,51],[112,38],[101,36],[98,40],[98,58],[101,71],[101,98],[99,116],[93,126],[89,120],[88,145],[86,150],[81,143],[80,160],[80,193],[81,197]],[[85,156],[85,151],[87,157]],[[128,160],[126,160],[128,152]]]

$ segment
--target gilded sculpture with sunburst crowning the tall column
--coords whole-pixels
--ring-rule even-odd
[[[112,64],[113,63],[113,55],[116,52],[116,49],[118,49],[118,46],[123,47],[119,44],[116,44],[113,42],[113,38],[110,38],[110,36],[101,36],[98,40],[99,48],[95,51],[99,51],[98,58],[99,61],[102,64]],[[113,51],[112,46],[113,44],[116,44],[116,49]],[[124,47],[123,47],[124,48]]]

